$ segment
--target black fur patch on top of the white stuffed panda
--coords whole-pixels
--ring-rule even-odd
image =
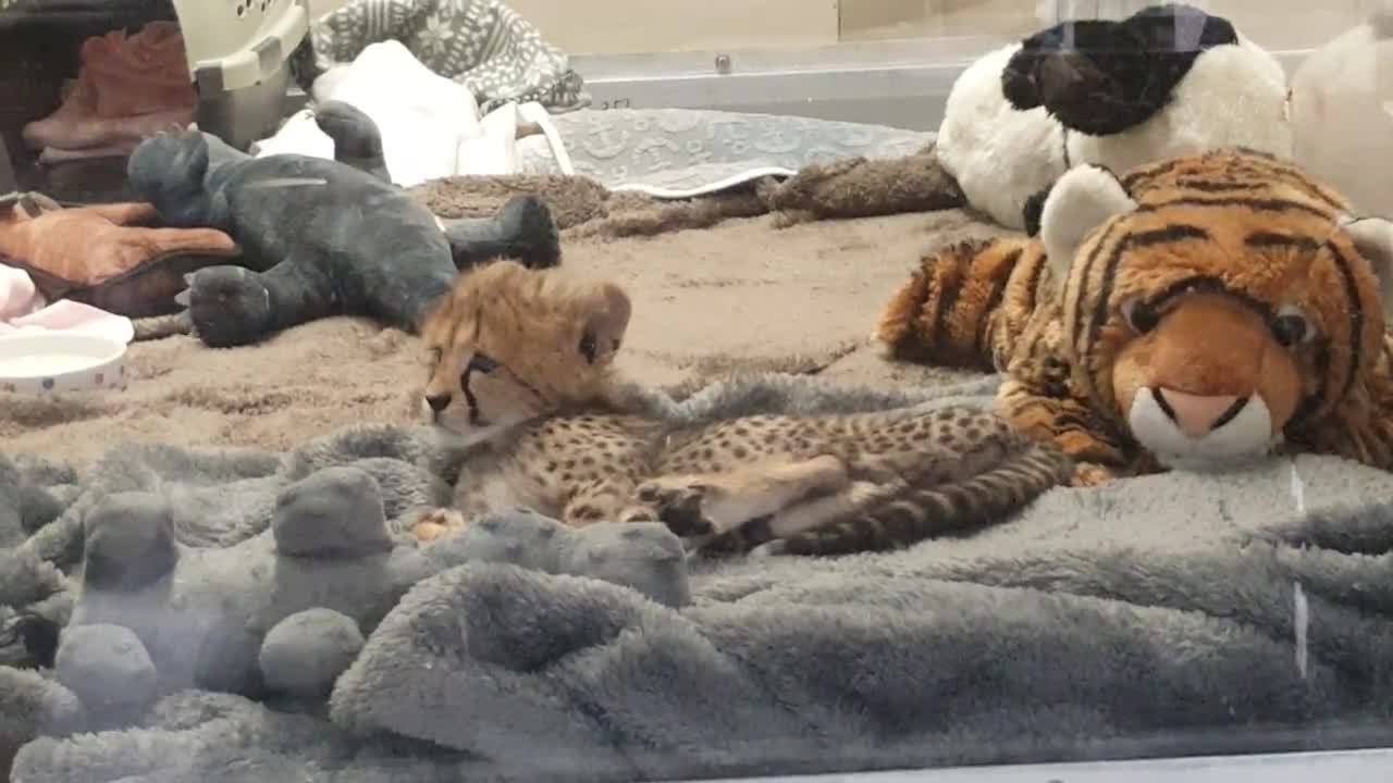
[[[1238,42],[1229,20],[1178,3],[1121,21],[1067,21],[1021,42],[1002,92],[1014,109],[1043,106],[1071,131],[1120,134],[1165,109],[1201,54]]]

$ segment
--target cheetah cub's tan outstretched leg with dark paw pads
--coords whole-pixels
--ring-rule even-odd
[[[678,536],[710,539],[848,483],[846,464],[825,454],[770,460],[730,472],[660,476],[641,483],[635,497]],[[628,518],[637,521],[635,513]]]

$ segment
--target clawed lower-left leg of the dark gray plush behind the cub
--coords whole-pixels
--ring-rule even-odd
[[[199,339],[213,348],[247,346],[333,311],[333,288],[318,270],[286,259],[269,272],[208,266],[185,277],[176,301],[188,308]]]

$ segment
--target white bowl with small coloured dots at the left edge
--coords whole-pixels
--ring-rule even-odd
[[[0,392],[125,389],[125,343],[75,332],[0,337]]]

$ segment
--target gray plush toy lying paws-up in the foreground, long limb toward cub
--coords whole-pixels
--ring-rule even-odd
[[[383,481],[403,465],[369,460]],[[82,591],[57,681],[88,711],[137,711],[188,687],[322,701],[421,580],[471,563],[586,575],[691,602],[681,542],[659,524],[584,529],[517,510],[426,550],[393,532],[378,476],[330,467],[281,490],[270,527],[226,549],[176,542],[167,499],[104,497],[84,520]]]

